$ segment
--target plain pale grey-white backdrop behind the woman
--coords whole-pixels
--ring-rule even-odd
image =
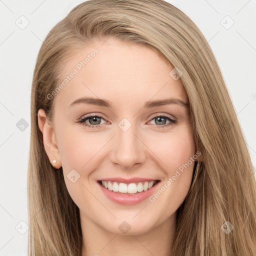
[[[49,30],[80,2],[0,0],[0,256],[27,251],[30,91],[36,56]],[[256,0],[169,2],[186,13],[209,42],[256,166]],[[29,21],[24,29],[15,23],[25,24],[21,15]],[[226,15],[234,21],[229,29]],[[16,126],[21,118],[28,123],[23,131]]]

